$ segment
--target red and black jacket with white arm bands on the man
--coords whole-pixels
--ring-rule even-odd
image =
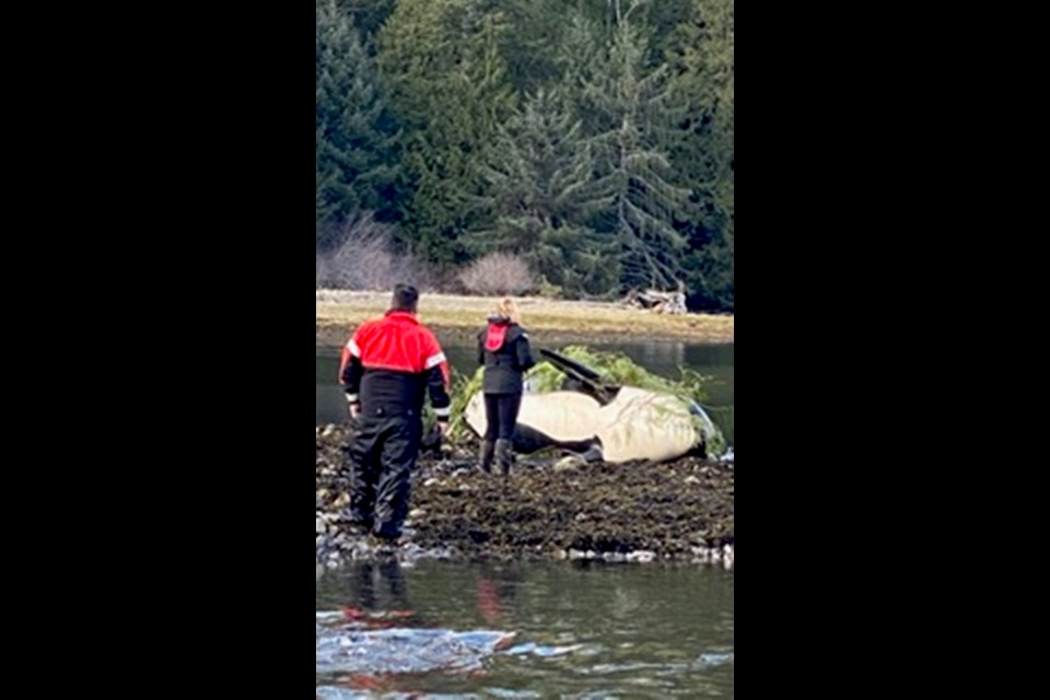
[[[438,419],[448,419],[448,361],[434,334],[408,312],[361,324],[342,350],[339,383],[364,416],[421,416],[429,388]]]

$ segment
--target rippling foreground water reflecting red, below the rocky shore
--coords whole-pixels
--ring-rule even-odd
[[[354,562],[316,591],[318,614],[357,620],[342,640],[319,626],[319,697],[733,697],[721,569]],[[340,642],[345,673],[323,664]]]

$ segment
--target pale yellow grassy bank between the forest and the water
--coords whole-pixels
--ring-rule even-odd
[[[388,292],[316,293],[317,345],[341,346],[363,320],[389,306]],[[594,336],[625,339],[660,338],[693,342],[733,342],[733,316],[685,314],[665,316],[607,302],[520,299],[522,324],[548,341],[586,341]],[[483,296],[423,294],[420,319],[445,337],[472,337],[485,324],[495,300]]]

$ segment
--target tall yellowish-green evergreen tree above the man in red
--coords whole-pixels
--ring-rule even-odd
[[[381,33],[380,65],[405,127],[413,194],[405,233],[430,260],[465,258],[459,236],[498,125],[514,108],[500,54],[506,24],[491,0],[402,0]]]

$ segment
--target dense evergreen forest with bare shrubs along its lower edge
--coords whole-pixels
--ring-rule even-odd
[[[733,0],[315,2],[318,288],[733,312]]]

